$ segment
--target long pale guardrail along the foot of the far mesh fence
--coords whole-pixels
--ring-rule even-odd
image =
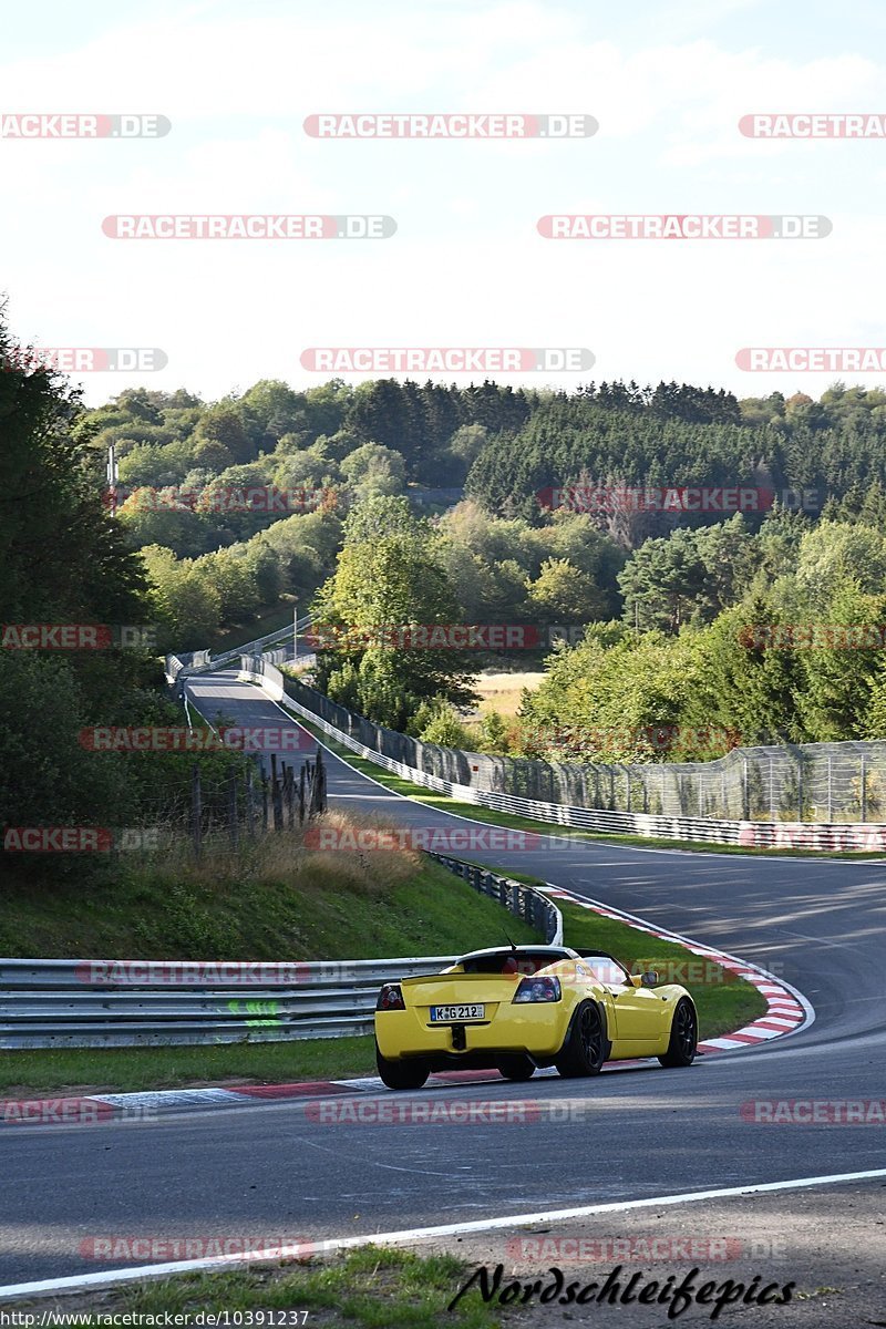
[[[259,682],[255,675],[254,680]],[[319,695],[312,694],[311,688],[295,683],[292,679],[286,680],[286,688],[287,695],[283,704],[341,743],[343,747],[367,758],[385,771],[392,771],[404,780],[434,789],[437,793],[446,793],[460,803],[473,803],[497,812],[510,812],[534,821],[550,821],[555,825],[575,827],[583,831],[636,835],[662,840],[699,840],[747,848],[871,851],[878,853],[886,851],[886,824],[882,823],[867,821],[843,825],[806,821],[727,821],[715,817],[615,812],[606,808],[580,808],[566,803],[525,799],[514,793],[497,793],[493,789],[478,789],[472,784],[458,784],[428,771],[420,771],[404,762],[396,762],[376,748],[360,743],[292,696],[292,690],[296,688],[299,696]],[[355,716],[355,722],[360,719],[361,716]]]

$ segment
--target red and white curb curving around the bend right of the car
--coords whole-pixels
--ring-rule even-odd
[[[553,900],[566,900],[570,905],[578,905],[579,909],[590,909],[602,918],[615,918],[619,922],[627,922],[636,932],[646,932],[650,937],[656,937],[659,941],[675,942],[693,956],[713,961],[713,964],[735,974],[736,978],[744,978],[745,982],[757,989],[765,998],[766,1014],[760,1015],[751,1025],[744,1025],[743,1029],[737,1029],[733,1034],[705,1039],[705,1042],[699,1043],[700,1053],[731,1053],[753,1043],[766,1043],[773,1038],[784,1038],[785,1034],[796,1034],[801,1029],[806,1029],[816,1018],[812,1003],[796,987],[774,978],[757,965],[739,960],[737,956],[731,956],[725,950],[717,950],[716,946],[704,946],[701,942],[692,941],[691,937],[669,932],[667,928],[654,928],[646,920],[638,918],[636,914],[615,909],[600,900],[588,900],[584,896],[576,896],[571,890],[563,890],[562,886],[549,884],[539,889]]]

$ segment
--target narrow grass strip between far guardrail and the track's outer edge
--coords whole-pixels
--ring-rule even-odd
[[[343,743],[331,738],[317,724],[312,724],[311,720],[306,720],[300,715],[296,719],[299,724],[303,724],[306,730],[324,743],[331,752],[348,762],[355,771],[372,776],[373,780],[384,784],[387,789],[393,789],[395,793],[402,793],[408,799],[425,803],[428,807],[438,808],[441,812],[456,812],[458,816],[469,817],[472,821],[510,827],[514,831],[545,831],[547,835],[563,836],[565,839],[630,845],[638,849],[684,849],[689,853],[733,853],[741,857],[762,855],[765,857],[850,859],[853,861],[858,859],[886,859],[883,853],[867,853],[862,851],[751,848],[737,844],[712,844],[707,840],[662,840],[642,835],[611,835],[606,831],[576,831],[574,827],[561,827],[551,821],[534,821],[531,817],[515,816],[511,812],[495,812],[493,808],[481,808],[476,803],[460,803],[457,799],[450,799],[446,793],[436,793],[433,789],[426,789],[422,784],[413,784],[410,780],[404,780],[392,771],[376,766],[368,758],[357,756],[356,752],[352,752],[351,748],[344,747]]]

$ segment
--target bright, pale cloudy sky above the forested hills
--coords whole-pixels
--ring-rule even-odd
[[[886,116],[879,0],[3,3],[0,116],[165,116],[161,138],[0,137],[0,294],[37,347],[155,347],[72,375],[206,400],[298,388],[310,347],[584,348],[571,389],[676,379],[741,396],[743,347],[878,347],[886,138],[744,137],[757,112]],[[583,113],[563,141],[313,138],[319,113]],[[387,239],[121,241],[112,214],[383,214]],[[546,214],[825,215],[821,239],[550,241]],[[367,373],[344,375],[360,381]],[[472,375],[418,373],[466,384]],[[482,375],[473,375],[482,377]]]

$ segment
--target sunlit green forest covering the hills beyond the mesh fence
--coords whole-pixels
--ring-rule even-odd
[[[221,401],[130,388],[85,409],[49,375],[21,369],[7,389],[19,379],[44,381],[72,474],[104,508],[102,557],[126,570],[161,649],[248,637],[294,597],[336,627],[537,625],[539,641],[565,641],[531,659],[341,641],[320,651],[317,679],[428,740],[549,759],[886,736],[870,633],[772,645],[773,625],[790,638],[882,619],[881,388],[739,400],[676,383],[262,380]],[[624,501],[689,488],[765,501]],[[478,722],[472,679],[490,667],[546,670],[517,718]]]

